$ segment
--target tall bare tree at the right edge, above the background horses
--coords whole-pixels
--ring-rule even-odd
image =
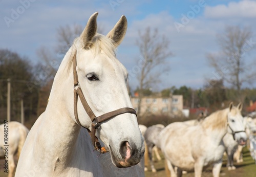
[[[227,27],[223,34],[217,36],[217,40],[221,52],[208,54],[207,58],[211,67],[216,70],[217,79],[231,84],[239,96],[242,84],[252,83],[256,78],[256,70],[253,67],[255,61],[249,63],[245,59],[245,55],[255,47],[252,32],[248,28]]]

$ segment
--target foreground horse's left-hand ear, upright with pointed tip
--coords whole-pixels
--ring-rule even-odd
[[[82,40],[82,48],[88,49],[92,44],[91,41],[97,33],[98,14],[99,14],[98,12],[95,12],[94,14],[92,14],[92,16],[88,20],[86,28],[84,28],[82,34],[80,35],[80,38]]]

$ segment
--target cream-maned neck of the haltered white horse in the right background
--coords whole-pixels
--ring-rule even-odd
[[[227,109],[219,110],[205,118],[202,122],[202,127],[212,139],[215,139],[216,142],[221,142],[227,133]]]

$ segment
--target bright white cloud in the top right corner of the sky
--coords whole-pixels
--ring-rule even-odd
[[[230,2],[227,6],[206,6],[204,15],[207,18],[256,17],[255,9],[255,1],[244,0],[240,2]]]

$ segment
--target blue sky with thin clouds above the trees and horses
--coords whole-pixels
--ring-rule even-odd
[[[250,27],[256,31],[256,2],[249,0],[0,0],[0,9],[0,48],[27,56],[34,63],[39,61],[36,51],[41,46],[50,49],[56,46],[58,27],[85,26],[88,18],[98,11],[98,23],[103,26],[104,34],[113,28],[121,15],[126,16],[128,29],[117,56],[132,71],[139,57],[135,46],[138,30],[148,26],[157,28],[170,40],[169,50],[174,54],[167,59],[170,71],[162,76],[160,84],[154,86],[158,91],[182,85],[199,89],[206,83],[206,78],[216,79],[206,55],[220,50],[217,33],[224,32],[226,26]],[[18,14],[13,16],[14,13]],[[188,19],[185,24],[184,16]],[[184,25],[177,28],[175,24],[182,24],[182,18]],[[255,35],[251,41],[256,42]],[[255,59],[255,54],[254,50],[247,52],[246,60]],[[136,77],[130,79],[130,85],[136,88]],[[256,82],[246,86],[256,87]]]

